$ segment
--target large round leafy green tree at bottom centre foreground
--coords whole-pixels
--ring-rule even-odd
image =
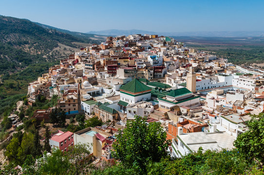
[[[139,166],[145,170],[148,161],[158,162],[167,157],[169,142],[167,134],[160,123],[147,124],[147,118],[135,116],[135,120],[127,123],[127,128],[119,130],[113,143],[113,157],[127,167]]]

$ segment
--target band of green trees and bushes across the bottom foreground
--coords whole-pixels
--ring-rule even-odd
[[[68,153],[59,150],[51,156],[44,153],[36,164],[34,155],[25,157],[22,169],[27,175],[263,175],[264,114],[253,116],[249,131],[241,134],[232,150],[204,151],[182,158],[170,158],[165,131],[159,123],[146,124],[146,118],[136,119],[119,132],[113,146],[115,165],[92,163],[87,145],[75,145]],[[153,134],[156,134],[154,138]],[[31,136],[33,137],[33,136]],[[23,140],[23,138],[22,138]],[[151,147],[147,148],[147,146]],[[123,147],[124,149],[121,149]],[[128,147],[128,148],[126,148]],[[86,156],[84,156],[86,155]],[[36,157],[36,156],[35,156]],[[85,163],[83,163],[85,162]],[[14,164],[4,165],[2,175],[17,174]]]

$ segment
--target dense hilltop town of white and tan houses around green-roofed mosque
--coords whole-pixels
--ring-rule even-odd
[[[95,156],[111,161],[116,128],[139,115],[160,122],[172,140],[171,156],[182,157],[199,147],[233,147],[247,130],[250,114],[264,110],[264,73],[246,71],[167,36],[109,36],[30,83],[29,104],[41,95],[57,95],[57,107],[67,115],[98,116],[112,124],[58,132],[52,142],[63,150],[89,142]],[[51,110],[38,110],[34,117],[48,121]]]

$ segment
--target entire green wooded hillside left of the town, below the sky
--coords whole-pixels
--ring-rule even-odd
[[[79,44],[100,43],[103,37],[64,32],[28,19],[0,16],[0,115],[8,115],[27,93],[28,83],[78,51]]]

